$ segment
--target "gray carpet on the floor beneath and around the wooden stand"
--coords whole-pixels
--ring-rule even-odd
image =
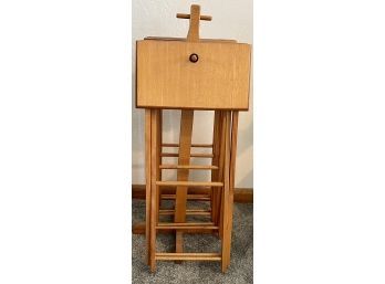
[[[197,208],[189,202],[190,208]],[[200,202],[201,204],[202,202]],[[164,203],[170,208],[170,203]],[[205,218],[205,217],[196,217]],[[145,220],[144,200],[133,200],[133,222]],[[167,220],[164,219],[165,221]],[[195,219],[188,219],[195,220]],[[198,219],[197,219],[198,220]],[[202,219],[199,219],[202,220]],[[219,252],[220,240],[211,234],[185,234],[186,252]],[[159,234],[157,238],[158,252],[173,252],[175,236]],[[252,283],[252,204],[235,203],[233,232],[231,243],[231,263],[228,271],[221,273],[220,262],[183,262],[175,264],[169,261],[158,261],[156,272],[152,274],[146,265],[145,235],[133,234],[133,283],[167,283],[167,284],[206,284],[206,283]]]

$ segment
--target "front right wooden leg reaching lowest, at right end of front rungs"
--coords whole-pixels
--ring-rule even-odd
[[[230,245],[231,245],[231,230],[230,229],[230,123],[231,112],[226,112],[226,124],[225,124],[225,168],[223,168],[223,194],[222,194],[222,227],[220,229],[222,233],[222,261],[221,269],[226,272],[227,264],[230,257]]]

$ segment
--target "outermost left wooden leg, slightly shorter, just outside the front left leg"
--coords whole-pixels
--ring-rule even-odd
[[[152,191],[152,111],[145,109],[145,167],[146,167],[146,249],[147,249],[147,264],[149,265],[150,259],[150,234],[149,234],[149,223],[150,223],[150,191]]]

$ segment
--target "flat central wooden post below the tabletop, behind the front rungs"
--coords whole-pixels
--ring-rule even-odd
[[[192,122],[194,111],[181,111],[178,165],[188,165],[190,162]],[[187,181],[188,175],[188,169],[178,169],[177,180]],[[186,186],[179,186],[176,189],[174,217],[174,221],[176,223],[186,221],[187,189],[188,187]],[[184,251],[183,232],[178,230],[176,231],[175,251],[177,253],[181,253]]]

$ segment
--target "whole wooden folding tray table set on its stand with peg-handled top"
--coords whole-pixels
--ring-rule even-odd
[[[249,107],[250,45],[230,40],[200,40],[200,7],[191,6],[187,39],[146,38],[137,41],[137,107],[145,108],[146,244],[148,264],[156,261],[220,261],[230,264],[232,202],[237,155],[238,113]],[[181,109],[178,144],[162,138],[162,109]],[[212,144],[192,144],[194,111],[215,111]],[[164,148],[177,147],[178,152]],[[211,154],[192,154],[191,148],[211,148]],[[164,157],[178,158],[163,164]],[[190,157],[210,159],[209,165],[191,165]],[[163,170],[176,170],[177,180],[162,179]],[[210,170],[211,180],[190,181],[190,170]],[[163,194],[164,187],[175,194]],[[208,191],[191,189],[208,189]],[[202,193],[204,192],[204,193]],[[175,200],[174,209],[163,209],[162,199]],[[188,200],[209,202],[210,209],[187,209]],[[162,222],[159,215],[173,215]],[[186,215],[206,215],[209,222],[187,222]],[[157,252],[156,235],[175,231],[175,252]],[[220,252],[184,252],[184,233],[215,233]]]

